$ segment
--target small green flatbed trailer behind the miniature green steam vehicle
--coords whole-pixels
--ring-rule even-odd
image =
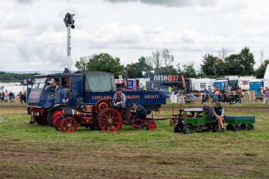
[[[227,123],[226,129],[233,130],[234,132],[239,130],[253,130],[255,123],[255,116],[241,115],[241,116],[226,116],[225,123]]]

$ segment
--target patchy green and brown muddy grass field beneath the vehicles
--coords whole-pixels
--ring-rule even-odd
[[[171,105],[163,109],[171,116]],[[66,134],[28,125],[25,105],[0,103],[0,178],[269,178],[268,105],[224,109],[255,115],[255,129],[182,134],[157,121],[151,131],[122,125]]]

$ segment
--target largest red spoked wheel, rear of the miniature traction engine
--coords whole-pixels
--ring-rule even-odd
[[[114,109],[104,109],[97,116],[99,128],[104,132],[116,132],[122,125],[120,112]]]

